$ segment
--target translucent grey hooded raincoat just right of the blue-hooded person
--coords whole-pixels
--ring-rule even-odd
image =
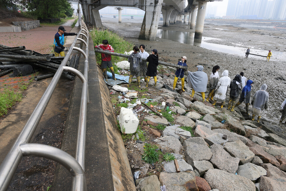
[[[262,84],[260,90],[256,91],[252,97],[252,114],[261,116],[264,109],[268,107],[269,95],[265,91],[267,89],[266,84]]]

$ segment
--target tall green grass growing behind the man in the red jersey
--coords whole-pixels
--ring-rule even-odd
[[[114,52],[116,53],[122,53],[129,52],[133,49],[133,44],[129,43],[128,41],[124,40],[123,37],[117,35],[114,32],[111,32],[109,30],[99,30],[99,29],[93,29],[90,32],[90,35],[93,40],[93,45],[100,45],[102,44],[102,40],[108,40],[108,43],[114,48]],[[101,54],[96,53],[96,60],[98,64],[101,63]],[[119,57],[111,55],[111,61],[112,63],[120,62],[127,60],[127,58]],[[118,73],[118,68],[113,64],[114,72],[116,74]]]

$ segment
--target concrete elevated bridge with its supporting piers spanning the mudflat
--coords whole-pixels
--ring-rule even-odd
[[[144,10],[145,15],[138,38],[152,41],[156,38],[161,12],[164,20],[163,26],[165,27],[176,22],[182,22],[183,15],[184,23],[186,23],[189,14],[188,24],[190,29],[195,29],[195,38],[201,39],[206,7],[210,1],[222,0],[188,0],[186,7],[184,0],[79,0],[79,3],[82,5],[85,21],[97,28],[102,27],[99,10],[106,6],[118,7],[119,23],[121,23],[122,6],[137,7]]]

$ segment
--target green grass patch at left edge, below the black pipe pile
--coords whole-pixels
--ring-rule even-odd
[[[2,93],[0,93],[0,116],[2,117],[4,114],[7,114],[8,109],[15,105],[16,102],[21,101],[22,94],[15,93],[14,90],[4,89]]]

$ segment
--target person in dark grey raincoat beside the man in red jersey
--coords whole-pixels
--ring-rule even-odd
[[[141,60],[141,55],[138,53],[139,48],[137,46],[133,47],[133,53],[130,54],[128,57],[128,62],[130,63],[130,76],[129,76],[129,81],[127,87],[130,87],[131,81],[133,79],[133,76],[136,76],[137,82],[138,82],[138,87],[140,86],[140,62]]]

